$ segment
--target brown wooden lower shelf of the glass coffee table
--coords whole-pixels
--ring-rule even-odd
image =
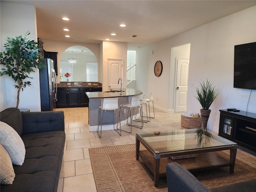
[[[140,150],[139,157],[143,160],[149,170],[154,174],[154,157],[148,150]],[[166,176],[166,164],[177,162],[184,168],[193,171],[208,170],[219,167],[231,166],[229,160],[219,156],[216,152],[196,154],[195,158],[172,160],[169,157],[160,159],[159,176]]]

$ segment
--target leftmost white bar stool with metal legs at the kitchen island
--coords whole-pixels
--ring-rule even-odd
[[[120,124],[120,133],[118,132],[118,122],[117,122],[116,129],[115,129],[115,112],[116,112],[116,110],[118,111],[118,122]],[[97,130],[98,135],[101,138],[102,112],[106,112],[106,111],[113,111],[114,130],[116,130],[116,132],[118,132],[118,134],[121,135],[121,122],[120,122],[120,111],[118,110],[118,98],[104,98],[103,99],[103,104],[102,104],[102,106],[100,106],[100,113],[99,113],[99,119],[98,119],[98,130]],[[100,121],[100,119],[101,119],[101,121]],[[100,133],[99,133],[99,126],[100,126]]]

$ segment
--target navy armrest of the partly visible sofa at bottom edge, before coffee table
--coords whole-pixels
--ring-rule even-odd
[[[194,175],[176,162],[166,165],[166,180],[168,192],[210,192]]]

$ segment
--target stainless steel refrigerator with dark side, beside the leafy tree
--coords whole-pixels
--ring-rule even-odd
[[[39,70],[41,111],[52,111],[56,108],[57,81],[52,59],[44,59],[46,67]]]

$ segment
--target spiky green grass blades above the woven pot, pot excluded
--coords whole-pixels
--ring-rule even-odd
[[[218,94],[213,81],[206,79],[206,82],[201,80],[200,85],[196,87],[195,97],[202,105],[202,109],[208,110]]]

